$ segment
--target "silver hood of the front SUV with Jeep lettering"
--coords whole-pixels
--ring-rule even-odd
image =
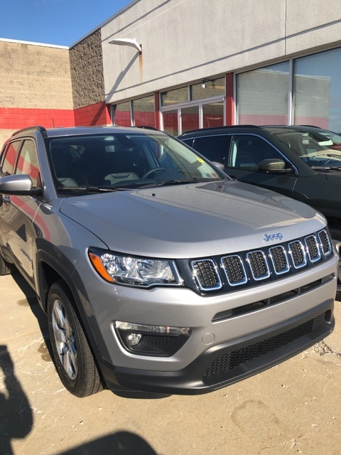
[[[165,258],[251,250],[325,226],[308,205],[237,181],[70,197],[60,211],[110,250]]]

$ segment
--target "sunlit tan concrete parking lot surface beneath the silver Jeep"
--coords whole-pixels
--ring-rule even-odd
[[[340,455],[341,304],[335,331],[285,363],[207,395],[68,393],[24,280],[0,277],[0,454]]]

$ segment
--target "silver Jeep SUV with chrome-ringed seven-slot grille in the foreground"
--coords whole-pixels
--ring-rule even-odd
[[[210,392],[332,331],[325,218],[163,132],[24,129],[0,177],[0,274],[35,289],[78,397]]]

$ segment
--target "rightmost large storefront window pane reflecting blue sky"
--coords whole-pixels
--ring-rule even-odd
[[[295,61],[295,124],[312,124],[340,131],[341,49]]]

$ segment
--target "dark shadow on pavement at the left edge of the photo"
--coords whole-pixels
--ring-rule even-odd
[[[12,455],[11,439],[23,439],[31,432],[33,414],[6,345],[0,345],[0,370],[6,387],[0,392],[0,454]]]

